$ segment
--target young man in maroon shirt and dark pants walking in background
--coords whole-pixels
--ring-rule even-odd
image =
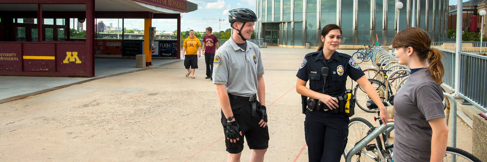
[[[206,78],[211,78],[213,73],[213,59],[215,58],[215,51],[218,48],[218,39],[215,35],[211,34],[211,27],[206,28],[206,36],[203,37],[203,51],[205,55],[206,63]],[[215,48],[216,47],[216,48]],[[211,78],[213,80],[213,78]]]

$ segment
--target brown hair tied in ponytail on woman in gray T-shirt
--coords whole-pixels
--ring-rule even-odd
[[[419,59],[428,60],[430,64],[428,68],[436,84],[443,83],[442,78],[445,74],[445,68],[441,63],[441,57],[444,53],[438,49],[431,48],[431,37],[426,31],[416,27],[401,30],[394,36],[392,46],[393,48],[412,47]]]

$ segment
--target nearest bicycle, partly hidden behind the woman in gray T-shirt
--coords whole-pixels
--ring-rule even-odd
[[[377,108],[374,102],[368,101],[367,107],[370,109]],[[390,106],[388,102],[383,102]],[[380,112],[377,112],[380,114]],[[349,122],[348,144],[345,146],[343,157],[345,162],[393,162],[393,144],[389,142],[389,133],[394,129],[394,122],[387,125],[382,124],[379,117],[380,126],[374,127],[369,121],[363,118],[352,118]],[[380,140],[380,135],[382,139]],[[375,143],[374,143],[375,140]],[[353,153],[353,154],[352,154]],[[459,148],[447,147],[443,162],[467,160],[468,162],[481,162],[472,154]]]

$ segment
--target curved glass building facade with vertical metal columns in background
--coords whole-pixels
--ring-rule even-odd
[[[342,45],[391,45],[398,20],[399,30],[416,26],[433,41],[448,33],[448,0],[256,0],[255,11],[256,37],[271,46],[317,47],[327,24],[340,26]]]

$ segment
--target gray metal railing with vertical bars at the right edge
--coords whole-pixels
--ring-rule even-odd
[[[455,89],[455,51],[438,48],[446,54],[442,59],[445,67],[443,85]],[[487,112],[487,56],[460,53],[460,82],[457,95]]]

